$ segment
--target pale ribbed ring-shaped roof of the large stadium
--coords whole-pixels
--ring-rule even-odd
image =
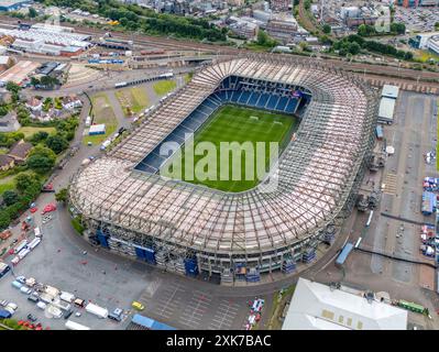
[[[295,139],[281,156],[274,190],[260,184],[223,193],[133,167],[228,76],[304,87],[311,92]],[[315,235],[343,208],[376,121],[376,94],[325,66],[275,56],[207,66],[166,99],[107,156],[73,179],[70,199],[86,218],[206,253],[257,254]]]

